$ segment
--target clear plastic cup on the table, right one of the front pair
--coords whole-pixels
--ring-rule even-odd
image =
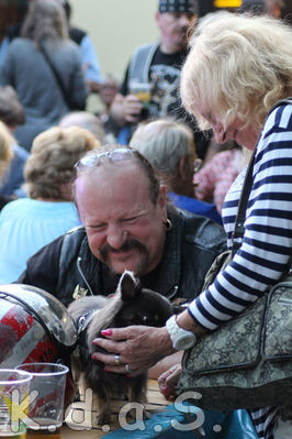
[[[69,369],[55,363],[27,363],[16,366],[33,375],[29,406],[27,439],[59,439],[64,420],[66,375]],[[0,438],[1,439],[1,438]]]

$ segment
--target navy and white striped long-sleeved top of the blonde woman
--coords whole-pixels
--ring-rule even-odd
[[[239,176],[223,211],[228,245],[243,184]],[[215,282],[189,306],[209,330],[242,312],[289,266],[292,249],[292,105],[274,109],[257,146],[242,245]]]

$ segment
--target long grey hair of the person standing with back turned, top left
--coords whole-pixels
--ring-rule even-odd
[[[61,3],[58,0],[31,1],[21,34],[36,44],[68,40],[68,25]]]

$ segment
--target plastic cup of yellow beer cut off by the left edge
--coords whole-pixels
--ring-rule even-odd
[[[0,369],[0,439],[25,439],[32,375]]]

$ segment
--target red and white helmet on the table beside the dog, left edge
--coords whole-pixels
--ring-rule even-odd
[[[67,362],[77,330],[66,307],[43,289],[0,285],[0,367]]]

